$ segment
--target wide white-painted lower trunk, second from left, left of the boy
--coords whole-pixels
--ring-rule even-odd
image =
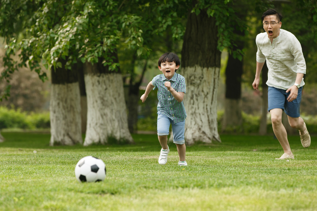
[[[109,138],[133,143],[128,129],[123,82],[119,73],[85,74],[87,129],[84,146]]]

